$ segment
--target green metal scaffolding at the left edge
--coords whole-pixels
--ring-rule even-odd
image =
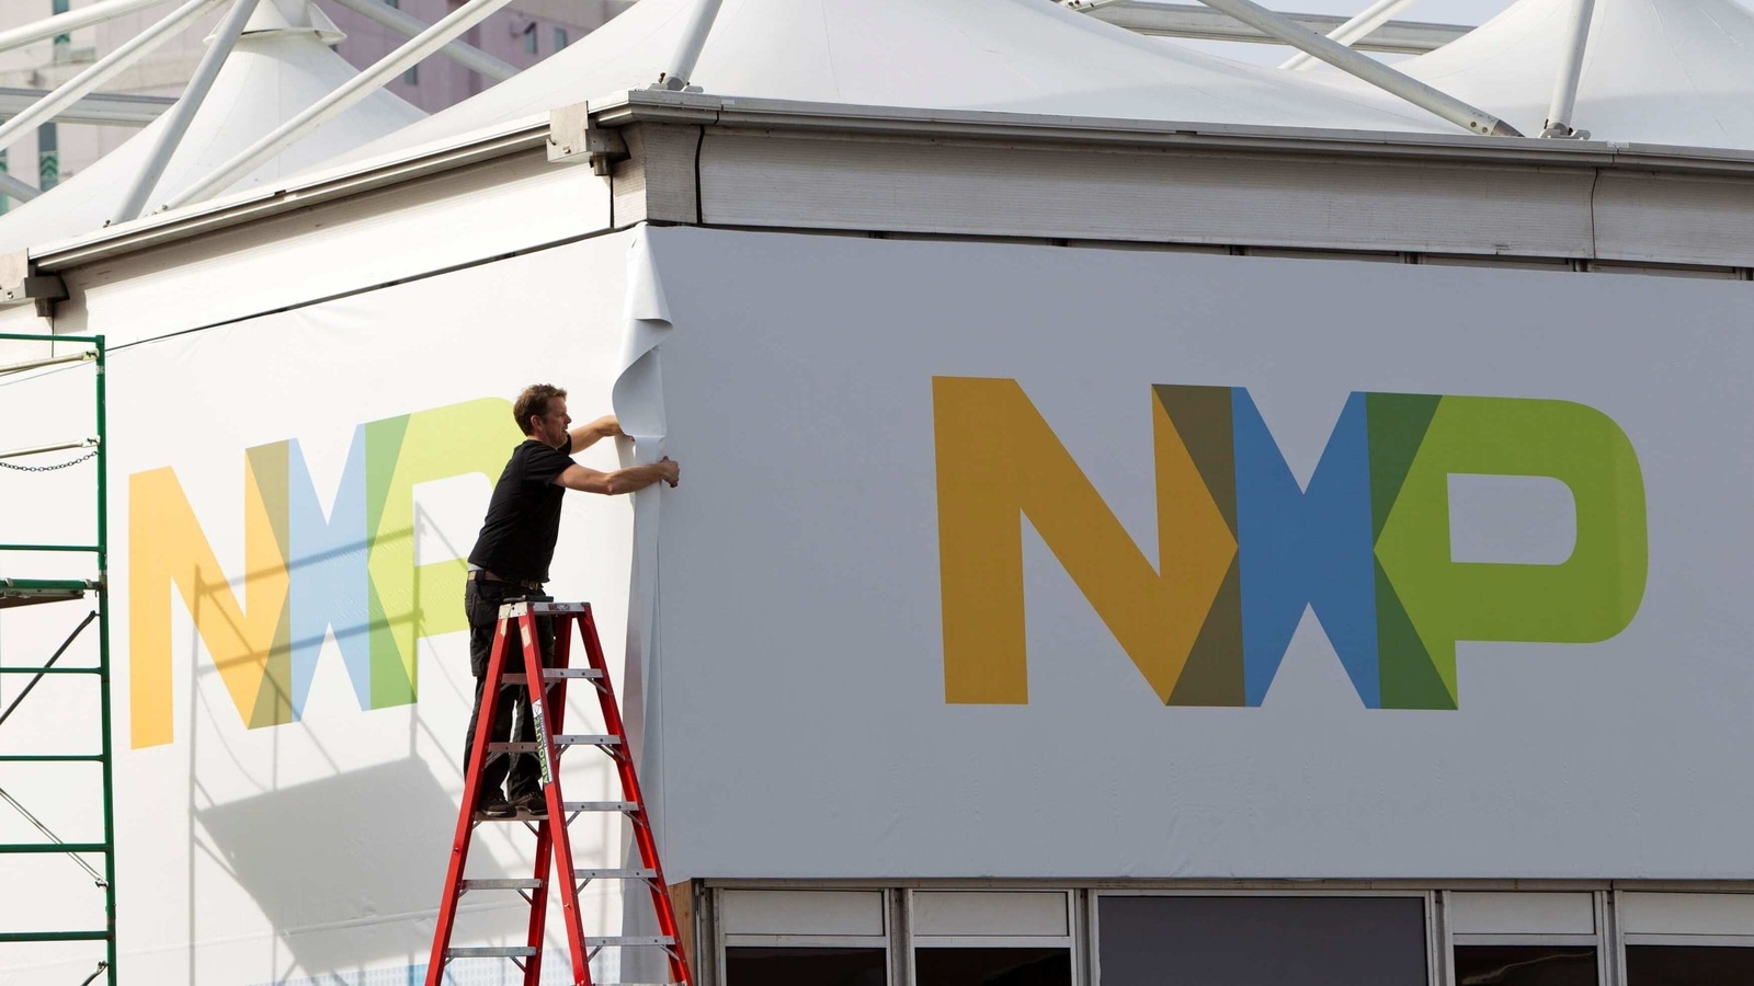
[[[4,553],[72,553],[72,554],[89,554],[95,565],[91,565],[91,577],[86,579],[12,579],[0,577],[0,609],[12,609],[23,605],[47,605],[47,604],[72,604],[79,600],[95,600],[95,609],[74,628],[72,633],[61,642],[54,653],[33,667],[4,667],[0,665],[0,675],[7,679],[26,677],[26,684],[11,698],[9,704],[0,705],[0,726],[5,719],[19,707],[21,702],[30,698],[32,689],[49,675],[96,675],[98,693],[100,693],[100,712],[98,721],[93,723],[100,733],[100,749],[96,753],[32,753],[32,754],[9,754],[0,753],[0,768],[7,763],[98,763],[102,765],[103,775],[103,840],[102,842],[63,842],[54,832],[42,825],[28,807],[21,805],[12,795],[5,791],[4,775],[0,775],[0,800],[7,802],[12,811],[25,816],[39,832],[44,833],[44,840],[37,842],[9,842],[0,844],[0,856],[4,854],[67,854],[72,858],[86,874],[91,875],[103,888],[103,928],[70,928],[70,930],[42,930],[42,932],[9,932],[0,930],[0,944],[7,942],[82,942],[82,940],[102,940],[107,947],[105,960],[98,965],[96,972],[91,974],[86,982],[96,981],[100,975],[114,986],[116,982],[116,800],[114,800],[114,756],[111,747],[111,653],[109,653],[109,484],[105,468],[107,453],[107,435],[105,435],[105,411],[103,411],[103,337],[70,337],[70,335],[19,335],[19,333],[0,333],[0,340],[7,342],[44,342],[49,344],[51,353],[60,346],[75,346],[77,351],[63,356],[47,356],[40,360],[28,360],[23,363],[0,365],[0,377],[11,374],[21,374],[30,370],[44,370],[53,367],[70,367],[79,363],[93,363],[95,368],[95,400],[96,400],[96,435],[68,440],[49,446],[35,446],[23,449],[0,449],[0,463],[11,460],[26,460],[30,456],[56,453],[56,451],[77,451],[89,449],[86,456],[74,460],[75,463],[89,458],[96,470],[96,537],[91,544],[0,544],[0,554]],[[4,437],[4,428],[0,428],[0,437]],[[74,463],[58,463],[74,465]],[[26,467],[28,468],[28,467]],[[40,468],[40,467],[39,467]],[[93,625],[96,625],[98,635],[98,661],[96,665],[60,665],[63,654],[74,646],[82,633],[86,633]],[[0,751],[5,749],[5,733],[0,730]],[[5,811],[5,809],[0,809]],[[103,872],[98,874],[86,856],[102,856]]]

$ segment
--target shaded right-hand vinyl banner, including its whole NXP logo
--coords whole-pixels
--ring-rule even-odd
[[[652,230],[681,877],[1750,879],[1747,284]]]

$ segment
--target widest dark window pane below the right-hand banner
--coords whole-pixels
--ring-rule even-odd
[[[1424,986],[1417,897],[1102,897],[1102,986]]]

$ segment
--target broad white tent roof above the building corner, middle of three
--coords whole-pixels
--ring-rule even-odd
[[[645,88],[693,5],[640,0],[540,65],[347,158]],[[1170,47],[1051,0],[724,0],[691,81],[714,95],[828,104],[1454,132],[1412,107]]]

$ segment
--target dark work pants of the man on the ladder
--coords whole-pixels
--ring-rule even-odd
[[[463,584],[463,611],[468,614],[468,670],[475,675],[475,711],[468,714],[468,735],[463,737],[463,772],[468,772],[468,754],[475,744],[475,725],[481,721],[481,697],[488,684],[488,658],[493,656],[493,632],[500,621],[500,605],[507,600],[537,595],[523,586],[470,579]],[[537,618],[537,642],[542,646],[542,665],[554,663],[554,619]],[[524,670],[524,647],[517,635],[505,639],[505,670]],[[517,735],[512,737],[512,709],[517,711]],[[521,684],[505,686],[493,709],[489,742],[535,742],[535,723],[530,721],[530,691]],[[481,772],[482,793],[505,784],[509,798],[519,798],[542,786],[542,767],[533,754],[509,753],[489,756]]]

